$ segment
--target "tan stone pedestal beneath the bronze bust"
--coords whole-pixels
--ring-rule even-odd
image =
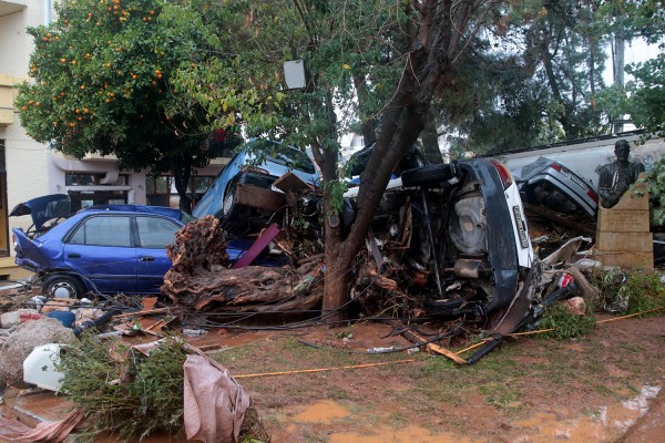
[[[646,190],[641,197],[626,192],[611,209],[598,207],[594,256],[605,266],[654,267]]]

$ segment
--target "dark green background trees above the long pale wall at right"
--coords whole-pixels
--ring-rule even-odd
[[[442,92],[442,124],[459,151],[500,152],[598,134],[610,112],[596,95],[606,37],[594,7],[566,0],[502,6]]]

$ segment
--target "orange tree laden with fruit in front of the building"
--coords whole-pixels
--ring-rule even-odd
[[[120,168],[171,172],[190,212],[186,186],[194,167],[205,166],[238,142],[207,144],[198,131],[201,107],[166,111],[185,91],[171,73],[216,56],[208,23],[200,14],[172,27],[156,0],[63,0],[57,20],[29,28],[34,38],[30,76],[17,106],[28,134],[75,157],[114,154]],[[214,18],[213,18],[214,19]],[[233,134],[233,126],[226,125]]]

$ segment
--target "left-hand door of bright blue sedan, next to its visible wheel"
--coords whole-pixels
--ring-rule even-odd
[[[93,214],[65,240],[63,261],[104,293],[134,292],[136,248],[130,215]]]

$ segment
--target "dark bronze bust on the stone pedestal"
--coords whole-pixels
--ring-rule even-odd
[[[601,205],[611,208],[618,203],[621,197],[631,187],[640,173],[644,172],[644,165],[640,162],[630,162],[631,145],[625,140],[620,140],[614,144],[614,155],[616,162],[608,163],[601,167],[598,179],[598,194]]]

